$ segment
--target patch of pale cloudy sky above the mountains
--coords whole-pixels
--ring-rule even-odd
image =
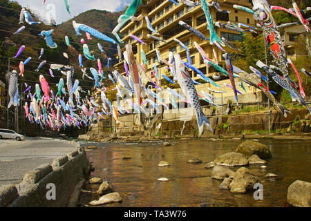
[[[50,15],[55,17],[56,23],[68,21],[73,17],[91,9],[106,10],[110,12],[124,10],[125,6],[129,5],[132,0],[68,0],[70,14],[66,10],[64,0],[15,0],[21,6],[31,9],[31,12],[39,14],[44,19],[48,20]]]

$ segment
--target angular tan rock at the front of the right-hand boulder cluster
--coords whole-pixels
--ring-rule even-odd
[[[261,183],[261,180],[254,175],[249,169],[241,167],[234,174],[233,180],[229,185],[232,193],[246,193],[247,190],[253,189],[254,184]]]

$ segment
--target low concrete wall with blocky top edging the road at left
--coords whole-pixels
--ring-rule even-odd
[[[0,207],[67,206],[75,185],[88,177],[90,170],[84,149],[78,147],[52,164],[29,171],[19,184],[1,186]],[[55,200],[46,197],[52,190],[48,184],[55,184]]]

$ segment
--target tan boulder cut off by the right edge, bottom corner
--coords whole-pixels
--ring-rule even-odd
[[[288,203],[292,206],[311,207],[311,182],[293,182],[288,187]]]

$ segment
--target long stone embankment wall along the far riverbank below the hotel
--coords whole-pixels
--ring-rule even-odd
[[[187,108],[185,108],[187,109]],[[189,111],[192,109],[188,109],[186,111],[189,116]],[[202,111],[206,115],[210,115],[211,110],[207,108],[202,108]],[[300,110],[300,111],[292,111],[292,113],[288,113],[287,117],[284,117],[280,113],[273,112],[270,115],[270,127],[272,130],[288,128],[294,122],[297,116],[299,119],[303,120],[306,115],[308,115],[308,110]],[[155,115],[153,115],[155,116]],[[190,114],[190,118],[182,117],[180,113],[174,113],[170,111],[170,113],[164,113],[160,115],[154,124],[149,128],[149,122],[152,121],[152,117],[149,118],[149,121],[145,121],[140,123],[138,120],[133,121],[135,118],[139,118],[136,114],[128,115],[128,116],[120,116],[121,125],[115,126],[112,132],[117,134],[135,134],[145,133],[147,135],[167,135],[168,137],[180,136],[182,132],[183,137],[197,137],[198,136],[198,124],[196,122],[196,115],[193,113]],[[178,116],[178,117],[177,117]],[[186,115],[185,115],[186,116]],[[211,133],[215,134],[220,131],[220,133],[240,133],[241,131],[268,131],[269,130],[269,116],[267,113],[249,113],[249,114],[241,114],[241,115],[220,115],[214,117],[208,117],[211,127],[213,128],[213,132],[205,130],[202,137],[208,136]],[[184,124],[185,123],[185,124]],[[226,124],[226,127],[224,127]],[[306,124],[310,124],[310,120],[306,121]],[[307,126],[308,127],[308,126]],[[138,128],[140,128],[138,130]],[[306,132],[308,133],[309,129],[305,128],[303,131],[294,131],[294,132]],[[89,134],[91,135],[91,134]],[[100,135],[100,133],[97,133]]]

